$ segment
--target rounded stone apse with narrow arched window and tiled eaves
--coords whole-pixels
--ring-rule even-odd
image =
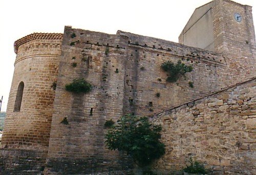
[[[62,36],[33,33],[14,42],[17,56],[1,145],[4,169],[20,168],[19,157],[25,155],[37,165],[38,157],[47,156]]]

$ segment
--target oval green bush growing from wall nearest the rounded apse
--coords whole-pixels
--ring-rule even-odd
[[[66,84],[66,91],[74,93],[88,93],[92,85],[83,78],[74,79],[72,83]]]

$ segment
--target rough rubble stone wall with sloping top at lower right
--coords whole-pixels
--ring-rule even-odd
[[[162,124],[159,169],[181,169],[189,157],[217,174],[254,174],[256,78],[151,115]]]

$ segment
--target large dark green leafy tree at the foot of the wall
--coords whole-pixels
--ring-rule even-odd
[[[111,150],[125,151],[143,167],[164,155],[161,130],[161,125],[151,124],[146,117],[125,115],[105,135],[105,143]]]

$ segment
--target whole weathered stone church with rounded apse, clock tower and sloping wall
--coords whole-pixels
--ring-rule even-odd
[[[0,173],[85,174],[132,167],[125,154],[104,144],[105,121],[129,113],[163,126],[166,152],[153,168],[182,169],[194,157],[217,174],[255,173],[251,10],[229,0],[198,7],[179,43],[71,26],[16,40]],[[180,60],[193,71],[167,82],[161,64],[168,60]],[[66,91],[76,78],[90,82],[92,91]]]

